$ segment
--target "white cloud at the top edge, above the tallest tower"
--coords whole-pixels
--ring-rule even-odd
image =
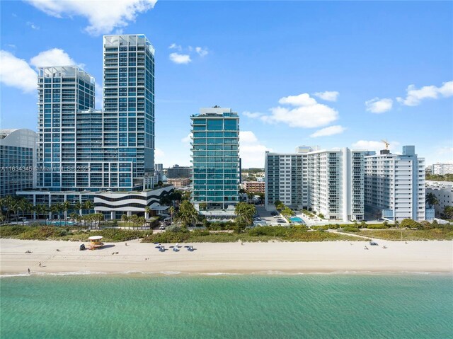
[[[153,8],[157,0],[28,0],[49,16],[56,18],[83,16],[90,23],[86,32],[91,35],[111,33],[134,22],[140,13]]]

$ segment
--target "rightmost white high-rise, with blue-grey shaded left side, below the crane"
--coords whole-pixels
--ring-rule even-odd
[[[365,156],[365,209],[390,220],[425,220],[425,159],[415,146],[403,146],[401,155],[374,153]]]

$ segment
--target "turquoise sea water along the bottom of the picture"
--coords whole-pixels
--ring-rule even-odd
[[[447,275],[3,277],[1,338],[453,338]]]

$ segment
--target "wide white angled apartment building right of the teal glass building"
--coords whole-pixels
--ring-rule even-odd
[[[276,200],[313,209],[326,219],[364,219],[365,151],[316,150],[301,146],[294,154],[265,154],[265,208]]]

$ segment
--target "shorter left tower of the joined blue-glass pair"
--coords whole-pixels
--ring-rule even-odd
[[[89,126],[81,127],[79,112],[93,108],[93,76],[74,66],[39,69],[38,188],[74,190],[89,186],[90,159],[81,159],[84,147],[77,142],[80,134],[89,138],[91,131]]]

